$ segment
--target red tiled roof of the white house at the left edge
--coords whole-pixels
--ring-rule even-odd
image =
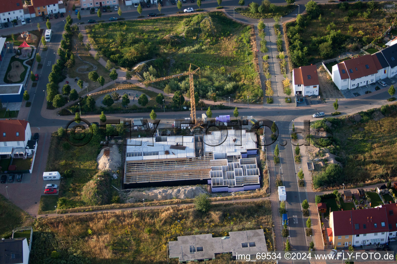
[[[0,142],[25,141],[25,129],[28,122],[25,120],[0,120]],[[17,137],[16,132],[19,132]],[[4,137],[3,134],[6,133]]]

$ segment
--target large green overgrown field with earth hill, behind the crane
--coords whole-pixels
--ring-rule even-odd
[[[94,48],[118,66],[131,68],[155,59],[148,65],[154,67],[156,75],[146,75],[146,79],[185,72],[193,63],[200,67],[200,76],[194,77],[200,96],[262,100],[252,50],[253,29],[222,12],[98,23],[86,28]],[[186,92],[189,78],[174,78],[157,87],[167,84],[173,92]]]

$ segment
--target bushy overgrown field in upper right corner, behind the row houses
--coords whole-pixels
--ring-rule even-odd
[[[307,15],[298,15],[295,22],[286,24],[291,61],[299,67],[358,51],[371,42],[383,46],[380,35],[396,19],[388,6],[376,1],[313,4]]]

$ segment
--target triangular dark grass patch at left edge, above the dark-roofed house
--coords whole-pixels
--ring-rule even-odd
[[[10,200],[0,194],[0,236],[21,226],[30,226],[34,219],[28,213],[14,205]]]

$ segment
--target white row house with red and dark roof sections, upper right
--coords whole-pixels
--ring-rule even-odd
[[[339,90],[366,86],[397,74],[397,45],[372,55],[349,59],[332,66],[332,80]]]

